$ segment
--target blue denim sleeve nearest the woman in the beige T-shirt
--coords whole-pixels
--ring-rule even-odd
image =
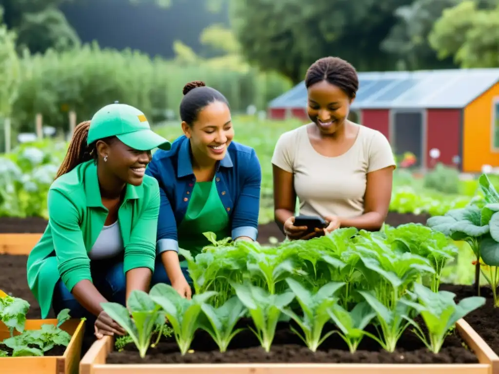
[[[246,165],[243,186],[234,204],[232,238],[247,236],[256,240],[258,236],[258,214],[260,211],[261,166],[254,150]]]

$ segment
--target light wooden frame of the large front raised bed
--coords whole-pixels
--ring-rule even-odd
[[[240,364],[149,364],[154,349],[141,364],[107,364],[112,354],[128,355],[128,352],[113,353],[114,339],[105,337],[96,341],[80,362],[80,374],[497,374],[499,357],[463,319],[456,324],[457,331],[468,348],[476,355],[476,364],[356,364],[356,363],[240,363]],[[329,339],[335,339],[333,337]],[[336,338],[337,339],[337,338]],[[225,354],[230,354],[230,349]],[[272,353],[270,352],[270,355]],[[317,352],[317,354],[320,354]],[[189,355],[189,354],[188,354]],[[186,356],[188,356],[186,355]],[[224,354],[214,354],[224,355]],[[397,353],[394,353],[397,355]],[[400,355],[400,354],[399,354]],[[186,359],[188,362],[188,359]],[[313,361],[313,359],[312,359]]]

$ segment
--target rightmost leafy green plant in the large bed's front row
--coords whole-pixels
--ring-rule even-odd
[[[414,285],[414,293],[418,303],[409,300],[402,302],[421,314],[428,330],[428,338],[414,320],[408,321],[415,327],[414,332],[418,338],[433,353],[440,352],[447,333],[458,320],[485,304],[485,298],[480,296],[467,297],[456,304],[456,294],[448,291],[436,293],[418,283]]]

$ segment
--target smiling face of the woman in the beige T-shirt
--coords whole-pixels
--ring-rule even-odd
[[[308,117],[321,133],[333,135],[344,126],[352,101],[338,86],[326,80],[317,82],[308,88]]]

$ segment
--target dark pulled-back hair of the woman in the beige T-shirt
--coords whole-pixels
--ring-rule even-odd
[[[327,80],[341,88],[350,99],[353,99],[359,89],[359,77],[355,68],[339,57],[323,57],[315,61],[305,75],[305,86]]]

